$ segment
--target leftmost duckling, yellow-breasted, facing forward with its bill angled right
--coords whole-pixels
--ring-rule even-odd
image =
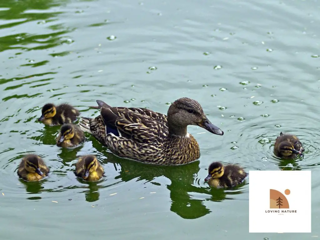
[[[27,181],[39,181],[49,172],[42,158],[35,154],[24,156],[18,168],[18,176]]]

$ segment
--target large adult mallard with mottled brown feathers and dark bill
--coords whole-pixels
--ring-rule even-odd
[[[100,116],[84,118],[79,123],[115,155],[149,164],[179,165],[200,157],[188,125],[223,135],[205,116],[201,105],[190,98],[174,101],[168,115],[146,108],[111,107],[97,100]]]

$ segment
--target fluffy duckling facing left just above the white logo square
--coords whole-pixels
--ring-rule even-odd
[[[237,164],[228,164],[223,166],[220,162],[213,162],[209,166],[209,175],[204,181],[215,188],[229,188],[243,182],[248,175],[242,167]]]

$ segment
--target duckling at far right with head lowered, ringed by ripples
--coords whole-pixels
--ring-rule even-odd
[[[276,138],[274,153],[281,158],[295,158],[299,154],[303,156],[304,148],[300,140],[292,134],[283,134]]]

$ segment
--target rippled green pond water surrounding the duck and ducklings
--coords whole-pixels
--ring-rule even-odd
[[[1,239],[311,239],[319,233],[320,4],[317,1],[0,1]],[[121,159],[90,134],[55,145],[59,126],[37,122],[44,103],[98,116],[95,100],[166,113],[196,99],[223,136],[189,126],[199,161],[174,167]],[[296,134],[303,160],[273,155]],[[19,180],[30,152],[48,178]],[[95,154],[106,177],[73,170]],[[212,161],[246,170],[312,170],[312,233],[249,233],[249,179],[204,183]]]

